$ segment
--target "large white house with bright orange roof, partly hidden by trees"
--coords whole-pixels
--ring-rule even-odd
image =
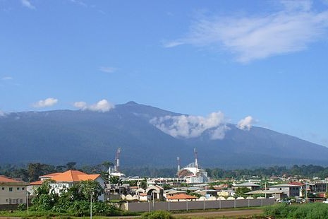
[[[66,172],[54,172],[44,176],[40,176],[40,181],[32,182],[29,187],[29,191],[33,191],[31,187],[38,187],[42,185],[47,179],[51,179],[50,186],[57,194],[60,194],[61,191],[65,191],[68,188],[73,187],[73,184],[76,184],[81,181],[95,180],[99,182],[100,186],[106,185],[106,182],[100,174],[86,174],[78,170],[68,170]],[[99,200],[104,201],[104,194],[98,197]]]

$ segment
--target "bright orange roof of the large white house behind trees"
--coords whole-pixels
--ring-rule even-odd
[[[49,177],[56,182],[80,182],[86,180],[95,180],[100,174],[86,174],[78,170],[68,170],[66,172],[54,172],[41,176],[40,178]]]

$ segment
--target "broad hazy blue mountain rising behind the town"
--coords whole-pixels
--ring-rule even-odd
[[[0,117],[0,163],[54,165],[114,161],[123,167],[259,167],[328,164],[328,148],[260,127],[237,127],[220,112],[208,118],[128,102],[108,112],[55,110]]]

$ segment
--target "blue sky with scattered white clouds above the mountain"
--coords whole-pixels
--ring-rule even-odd
[[[135,101],[328,146],[327,0],[0,0],[0,28],[0,117]]]

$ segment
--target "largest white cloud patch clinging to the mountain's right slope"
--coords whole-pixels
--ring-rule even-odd
[[[156,117],[150,123],[173,137],[195,138],[209,131],[212,139],[222,139],[229,129],[222,112],[213,112],[208,117],[197,116],[166,116]]]

